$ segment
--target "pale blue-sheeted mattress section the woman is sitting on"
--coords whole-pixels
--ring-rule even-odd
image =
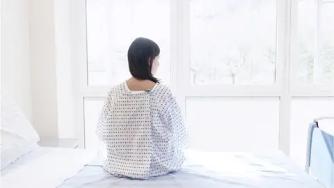
[[[280,151],[200,152],[187,151],[184,168],[149,180],[116,178],[102,169],[103,155],[86,165],[59,188],[96,187],[292,187],[324,188]]]

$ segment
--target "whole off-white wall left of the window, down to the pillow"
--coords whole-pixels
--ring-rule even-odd
[[[1,85],[40,137],[75,138],[70,1],[2,0]]]

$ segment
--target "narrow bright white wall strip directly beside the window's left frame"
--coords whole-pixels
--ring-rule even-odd
[[[70,1],[54,1],[58,136],[75,138],[72,86]]]

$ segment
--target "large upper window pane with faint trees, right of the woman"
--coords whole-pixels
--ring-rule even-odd
[[[191,81],[273,84],[275,0],[191,0]]]

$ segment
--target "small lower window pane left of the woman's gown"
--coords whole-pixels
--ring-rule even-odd
[[[101,148],[103,143],[95,134],[97,120],[104,104],[102,97],[85,97],[85,145],[86,149],[95,150]]]

